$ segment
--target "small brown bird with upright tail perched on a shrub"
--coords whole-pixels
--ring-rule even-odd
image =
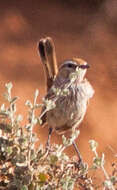
[[[57,67],[54,44],[51,38],[39,42],[39,53],[46,74],[47,94],[45,99],[55,102],[55,107],[42,114],[42,125],[47,122],[49,137],[52,130],[64,134],[68,130],[75,130],[82,122],[87,109],[87,103],[94,94],[94,90],[85,74],[89,65],[80,58],[64,61]],[[42,113],[46,107],[42,108]],[[73,143],[79,159],[81,155]]]

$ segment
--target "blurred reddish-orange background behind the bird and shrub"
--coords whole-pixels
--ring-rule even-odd
[[[25,101],[33,100],[35,89],[40,91],[38,102],[45,94],[44,72],[37,52],[37,42],[45,36],[53,38],[59,62],[81,57],[91,65],[87,78],[95,96],[81,124],[77,144],[84,160],[90,163],[93,153],[88,141],[98,141],[98,150],[105,153],[106,166],[111,168],[117,152],[117,1],[0,3],[0,103],[4,85],[11,81],[13,95],[20,97],[18,110],[24,121],[27,119]],[[36,131],[45,143],[47,129],[37,126]],[[61,137],[53,134],[52,142],[60,143]],[[75,154],[73,147],[67,152]]]

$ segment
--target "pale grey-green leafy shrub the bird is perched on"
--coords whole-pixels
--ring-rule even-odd
[[[7,102],[0,107],[0,189],[2,190],[81,190],[95,189],[88,165],[80,167],[77,158],[70,158],[64,150],[79,135],[74,131],[70,138],[62,137],[63,144],[51,144],[47,149],[41,142],[35,148],[35,125],[39,126],[36,110],[43,106],[37,103],[38,90],[33,102],[27,100],[27,123],[22,125],[23,117],[17,114],[18,97],[12,97],[12,83],[5,85]],[[57,90],[58,92],[58,90]],[[46,108],[53,109],[55,102],[44,101]],[[40,127],[40,126],[39,126]],[[96,153],[96,142],[90,146]],[[97,160],[96,160],[97,159]],[[103,158],[96,153],[93,169],[102,167]],[[98,163],[98,164],[97,164]],[[95,166],[95,167],[94,167]],[[106,173],[107,174],[107,173]],[[104,181],[104,187],[112,189],[116,185],[116,167],[111,178]]]

